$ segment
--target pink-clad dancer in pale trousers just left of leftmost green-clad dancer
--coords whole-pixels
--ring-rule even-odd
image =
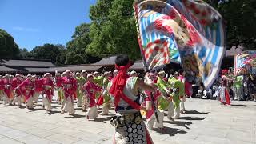
[[[46,73],[43,78],[43,83],[42,83],[42,103],[43,107],[46,106],[46,113],[50,114],[51,110],[51,100],[52,96],[54,95],[54,82],[51,80],[51,74]]]

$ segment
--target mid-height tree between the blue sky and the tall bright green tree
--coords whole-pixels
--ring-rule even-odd
[[[82,23],[75,28],[72,40],[66,43],[65,64],[81,64],[97,62],[98,58],[86,53],[86,47],[90,43],[90,24]]]

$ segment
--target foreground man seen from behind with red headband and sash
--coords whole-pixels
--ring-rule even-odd
[[[154,86],[144,83],[138,77],[129,78],[127,70],[130,62],[127,55],[117,56],[115,64],[118,74],[111,81],[109,90],[114,96],[116,111],[116,116],[110,120],[116,131],[114,143],[151,144],[153,142],[140,114],[140,110],[146,111],[146,109],[139,104],[138,88],[154,91]],[[150,82],[148,77],[146,79]]]

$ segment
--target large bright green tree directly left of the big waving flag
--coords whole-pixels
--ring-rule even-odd
[[[90,6],[90,44],[86,52],[104,57],[128,54],[140,58],[133,2],[130,0],[100,0]]]

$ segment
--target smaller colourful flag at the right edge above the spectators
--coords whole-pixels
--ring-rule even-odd
[[[243,51],[234,57],[234,74],[256,74],[256,51]]]

